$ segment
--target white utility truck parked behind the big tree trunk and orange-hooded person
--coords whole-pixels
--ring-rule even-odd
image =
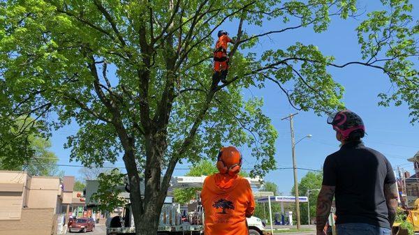
[[[179,176],[173,177],[170,183],[168,195],[172,193],[175,188],[200,188],[203,185],[206,176]],[[259,179],[247,178],[253,188],[260,188]],[[199,203],[200,196],[197,195],[197,202],[190,204],[186,209],[177,203],[172,202],[172,197],[167,197],[165,204],[161,210],[159,220],[159,235],[177,235],[177,234],[204,234],[203,221],[204,213],[203,207]],[[249,226],[250,235],[267,235],[270,232],[265,231],[262,220],[252,216],[247,218],[247,225]],[[135,226],[133,223],[133,214],[131,206],[128,204],[121,215],[113,218],[108,218],[106,221],[107,235],[122,235],[135,234]]]

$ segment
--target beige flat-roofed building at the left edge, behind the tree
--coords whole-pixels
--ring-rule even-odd
[[[80,193],[73,192],[73,185],[73,176],[61,180],[0,171],[0,235],[57,234],[66,211],[85,206]]]

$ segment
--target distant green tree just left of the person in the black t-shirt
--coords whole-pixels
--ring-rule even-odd
[[[300,193],[300,196],[307,196],[307,190],[311,190],[309,192],[310,217],[316,216],[318,189],[321,188],[322,181],[323,172],[308,172],[304,177],[302,177],[300,183],[298,183],[298,192]],[[295,195],[294,187],[291,193],[292,195]],[[302,224],[309,223],[307,215],[307,203],[300,204],[300,219]]]

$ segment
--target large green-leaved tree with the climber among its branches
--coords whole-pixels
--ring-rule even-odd
[[[243,88],[274,84],[296,109],[323,114],[342,107],[343,88],[328,67],[368,66],[394,84],[381,104],[405,102],[416,121],[418,73],[410,59],[418,55],[419,26],[407,0],[382,0],[383,10],[361,22],[362,61],[336,64],[315,45],[298,42],[256,50],[259,38],[274,33],[325,31],[332,17],[355,14],[356,3],[0,1],[1,120],[27,115],[53,128],[78,123],[66,146],[87,167],[123,156],[136,233],[156,234],[178,162],[214,159],[228,142],[249,147],[257,162],[251,174],[274,168],[277,131],[261,112],[263,100],[244,100]],[[275,28],[246,33],[265,21]],[[237,40],[228,82],[219,84],[212,76],[212,36],[224,22],[235,24]]]

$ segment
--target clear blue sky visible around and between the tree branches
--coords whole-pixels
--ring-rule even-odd
[[[419,15],[418,1],[411,2],[416,2],[414,4],[416,6],[415,13]],[[379,6],[379,1],[361,1],[360,3],[360,7],[365,8],[367,12]],[[312,29],[308,28],[273,35],[260,40],[256,49],[284,49],[298,41],[305,45],[317,45],[323,54],[335,56],[337,63],[359,61],[360,46],[355,28],[364,17],[365,15],[358,17],[358,20],[333,18],[330,28],[323,33],[314,33]],[[237,30],[235,24],[227,23],[223,27],[231,32]],[[261,33],[282,27],[278,22],[265,22],[261,28],[251,27],[246,30],[247,33]],[[230,33],[230,36],[234,36],[233,33]],[[419,151],[419,123],[416,126],[409,123],[409,109],[406,105],[378,107],[378,93],[390,89],[388,77],[383,75],[380,70],[362,66],[349,66],[343,69],[330,68],[329,71],[335,80],[345,87],[343,101],[346,107],[358,113],[365,122],[368,134],[364,138],[365,144],[381,151],[390,160],[393,167],[396,168],[400,165],[413,172],[413,164],[406,159],[411,158]],[[289,122],[281,121],[281,119],[290,113],[295,113],[295,110],[288,104],[286,96],[274,84],[270,84],[262,90],[244,89],[242,93],[244,98],[253,96],[264,98],[263,110],[272,119],[274,127],[279,132],[275,156],[277,167],[292,167]],[[339,149],[335,132],[325,119],[325,116],[316,116],[313,112],[300,112],[295,116],[295,139],[301,139],[308,134],[313,135],[311,139],[304,139],[296,146],[295,154],[298,167],[321,169],[325,157]],[[59,164],[69,164],[70,151],[64,149],[63,144],[66,142],[66,137],[75,134],[77,130],[78,126],[71,125],[53,132],[51,150],[59,156]],[[246,156],[246,149],[243,149],[243,152],[243,167],[252,168],[254,160]],[[80,165],[79,162],[71,164]],[[122,162],[117,162],[116,165],[123,166]],[[179,165],[177,168],[179,169],[175,170],[175,176],[187,172],[180,169],[185,166]],[[79,176],[78,167],[61,167],[61,169],[66,175]],[[307,171],[299,170],[299,179],[306,173]],[[288,195],[293,185],[293,172],[292,169],[277,170],[267,174],[265,179],[277,183],[279,191]]]

